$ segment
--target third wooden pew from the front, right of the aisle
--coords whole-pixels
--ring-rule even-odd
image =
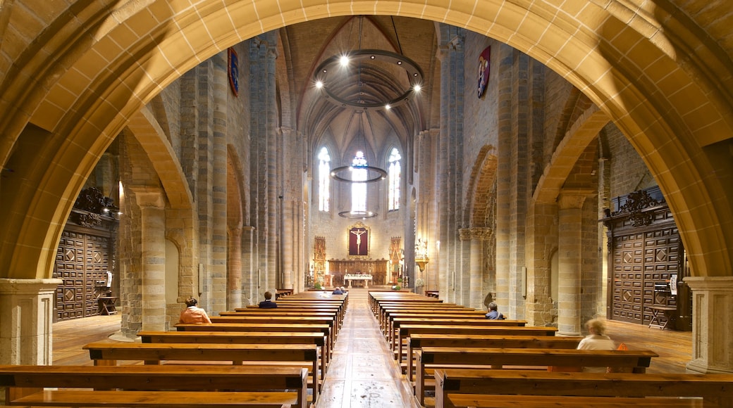
[[[496,349],[576,349],[583,337],[413,334],[408,339],[408,380],[413,380],[413,353],[421,347],[490,347]]]

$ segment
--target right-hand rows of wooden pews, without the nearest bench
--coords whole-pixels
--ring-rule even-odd
[[[414,378],[421,405],[434,404],[426,393],[434,388],[436,395],[440,393],[434,372],[441,369],[533,373],[553,366],[610,366],[641,373],[657,356],[649,350],[576,350],[582,338],[555,336],[556,328],[529,327],[521,320],[487,320],[485,311],[410,293],[370,293],[370,305],[408,380]]]

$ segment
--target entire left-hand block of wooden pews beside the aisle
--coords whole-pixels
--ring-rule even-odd
[[[140,343],[86,344],[95,366],[2,366],[0,386],[7,404],[25,406],[312,407],[348,296],[305,292],[277,303],[140,332]]]

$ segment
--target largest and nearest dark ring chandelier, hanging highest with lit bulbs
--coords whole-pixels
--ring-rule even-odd
[[[399,93],[397,97],[388,97],[387,100],[375,101],[367,99],[367,94],[364,91],[358,92],[356,99],[348,99],[336,93],[333,87],[336,87],[334,83],[339,80],[336,76],[339,75],[339,71],[343,72],[343,68],[350,65],[352,62],[358,65],[358,86],[364,86],[364,82],[361,80],[362,71],[382,71],[377,67],[377,64],[391,64],[401,69],[404,69],[408,78],[409,86],[407,89],[396,91]],[[314,74],[316,80],[316,88],[320,89],[325,99],[340,107],[352,107],[359,110],[367,109],[391,109],[402,105],[414,97],[414,94],[418,93],[421,89],[421,83],[423,82],[422,69],[412,61],[398,53],[392,53],[386,50],[354,50],[344,55],[335,55],[331,58],[326,59],[321,63]],[[375,81],[377,82],[377,81]],[[383,94],[383,92],[373,92],[372,94]]]

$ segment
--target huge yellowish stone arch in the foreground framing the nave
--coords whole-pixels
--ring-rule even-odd
[[[185,6],[165,0],[76,1],[28,4],[25,13],[4,7],[1,12],[10,13],[0,16],[0,21],[8,19],[4,29],[27,35],[4,50],[13,63],[0,71],[1,163],[14,154],[29,124],[48,137],[37,163],[43,171],[15,175],[32,177],[18,184],[13,197],[3,194],[10,221],[0,225],[0,273],[50,276],[53,252],[48,248],[58,242],[73,197],[97,157],[182,72],[243,39],[289,24],[383,14],[486,34],[567,78],[622,129],[655,175],[681,227],[693,274],[731,275],[733,192],[730,178],[718,175],[730,174],[733,165],[729,156],[718,155],[719,149],[706,148],[729,143],[733,134],[733,86],[728,83],[733,64],[715,34],[727,32],[726,20],[705,18],[692,10],[694,5],[679,10],[659,1],[631,10],[622,1],[611,2],[613,7],[608,1],[571,0],[560,8],[503,0],[468,7],[415,0],[328,7],[303,7],[297,0],[279,1],[277,7],[273,0]],[[733,4],[717,7],[720,15],[733,11]],[[34,14],[44,15],[45,23],[30,23]]]

